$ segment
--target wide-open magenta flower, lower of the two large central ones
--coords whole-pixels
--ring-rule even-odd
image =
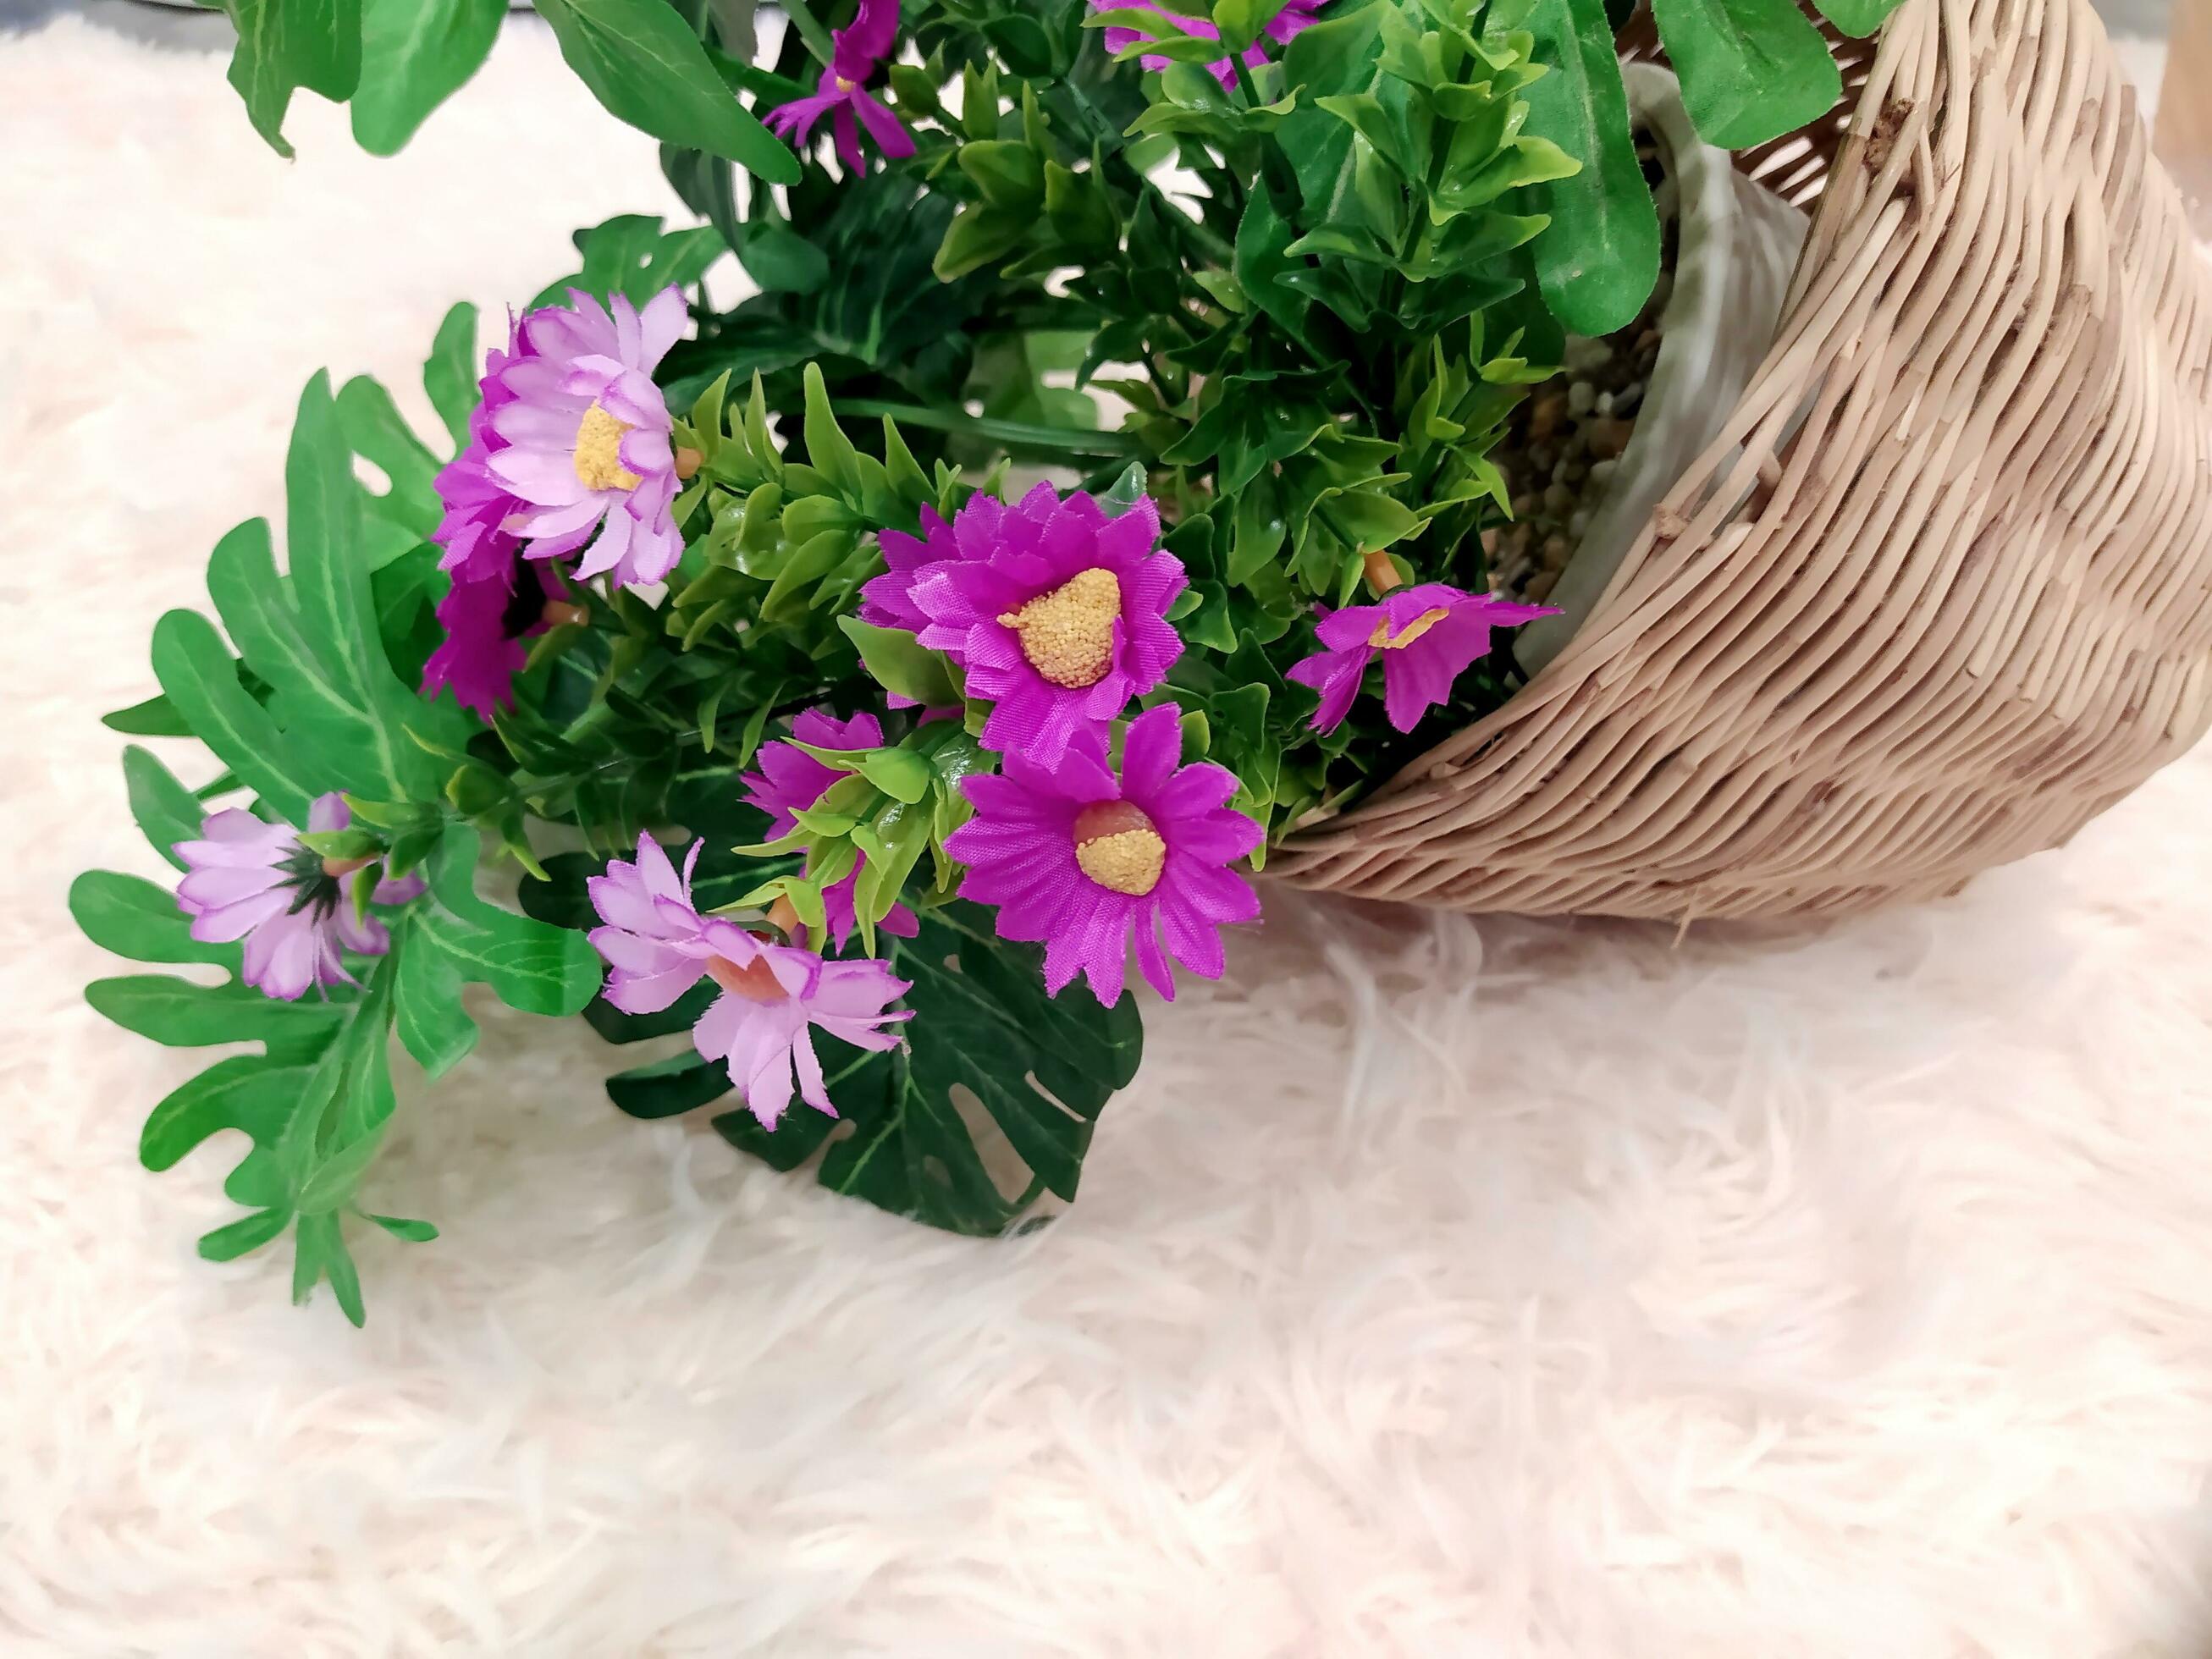
[[[1119,779],[1104,737],[1082,732],[1057,768],[1011,752],[1002,776],[960,785],[975,807],[945,841],[969,867],[960,896],[998,905],[1004,938],[1044,942],[1053,995],[1082,971],[1110,1009],[1135,933],[1137,967],[1172,1000],[1170,956],[1219,980],[1221,929],[1259,916],[1230,865],[1263,832],[1223,805],[1237,792],[1228,768],[1177,765],[1181,752],[1181,710],[1161,703],[1128,723]]]

